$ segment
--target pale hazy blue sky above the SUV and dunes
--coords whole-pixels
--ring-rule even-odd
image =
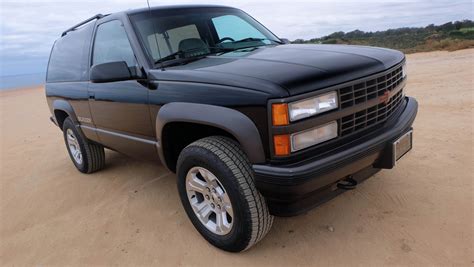
[[[241,8],[290,40],[335,31],[385,30],[473,19],[472,0],[150,0],[152,6],[221,4]],[[96,13],[141,8],[146,0],[1,0],[0,75],[45,71],[54,40]]]

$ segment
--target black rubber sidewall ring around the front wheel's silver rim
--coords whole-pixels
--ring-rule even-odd
[[[232,230],[226,235],[217,235],[209,231],[196,217],[186,192],[186,175],[193,167],[203,167],[212,172],[226,190],[234,213]],[[184,209],[193,225],[211,244],[227,250],[241,251],[250,242],[252,232],[249,205],[239,190],[234,173],[217,155],[211,151],[196,146],[183,150],[178,160],[178,191]]]

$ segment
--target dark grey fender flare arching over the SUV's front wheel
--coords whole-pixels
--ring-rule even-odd
[[[205,104],[173,102],[162,106],[156,117],[158,154],[165,163],[161,136],[169,122],[191,122],[220,128],[239,141],[251,163],[265,162],[265,153],[257,127],[239,111]]]

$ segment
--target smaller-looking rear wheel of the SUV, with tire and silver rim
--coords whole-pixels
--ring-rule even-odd
[[[93,173],[104,168],[104,147],[87,140],[70,118],[64,120],[63,135],[69,157],[80,172]],[[79,156],[75,157],[75,155],[78,155],[75,153],[77,151],[80,152],[81,160],[79,160]]]

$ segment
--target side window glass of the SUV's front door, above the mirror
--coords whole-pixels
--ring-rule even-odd
[[[135,55],[122,22],[113,20],[100,24],[94,42],[92,64],[125,61],[129,67],[136,65]]]

